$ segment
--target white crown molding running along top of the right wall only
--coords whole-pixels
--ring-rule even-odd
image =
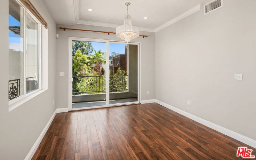
[[[164,29],[165,27],[168,27],[168,26],[172,25],[173,23],[175,23],[175,22],[177,22],[177,21],[179,21],[179,20],[189,16],[190,14],[193,14],[193,13],[199,11],[200,8],[201,8],[201,3],[197,4],[195,7],[189,9],[188,11],[180,14],[179,16],[177,16],[177,17],[167,21],[166,23],[162,24],[161,26],[155,28],[155,32],[157,32],[157,31],[159,31],[161,29]]]

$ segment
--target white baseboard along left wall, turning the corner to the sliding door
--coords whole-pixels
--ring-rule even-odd
[[[30,151],[28,152],[28,155],[26,156],[25,160],[30,160],[32,159],[32,157],[34,156],[35,152],[36,152],[36,149],[38,148],[39,144],[41,143],[45,133],[47,132],[48,128],[50,127],[51,123],[52,123],[52,120],[53,118],[55,117],[56,113],[61,113],[61,112],[68,112],[68,108],[57,108],[50,120],[48,121],[48,123],[45,125],[43,131],[41,132],[41,134],[39,135],[39,137],[37,138],[36,142],[34,143],[33,147],[30,149]]]

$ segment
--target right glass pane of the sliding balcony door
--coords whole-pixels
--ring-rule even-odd
[[[109,104],[138,101],[138,45],[109,44]]]

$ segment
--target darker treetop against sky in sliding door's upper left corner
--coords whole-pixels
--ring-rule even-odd
[[[82,54],[88,55],[93,52],[93,46],[91,42],[85,41],[72,41],[72,55],[76,54],[76,51],[80,50]]]

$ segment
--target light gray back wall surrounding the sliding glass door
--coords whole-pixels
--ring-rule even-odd
[[[65,76],[57,77],[56,100],[57,108],[68,108],[68,37],[84,37],[94,39],[120,40],[114,34],[84,32],[74,30],[60,30],[59,27],[79,28],[89,30],[111,31],[115,28],[88,26],[88,25],[57,25],[57,73],[65,72]],[[141,100],[155,99],[155,33],[141,32],[148,35],[146,38],[138,37],[135,42],[141,42]],[[149,94],[146,92],[149,91]]]

